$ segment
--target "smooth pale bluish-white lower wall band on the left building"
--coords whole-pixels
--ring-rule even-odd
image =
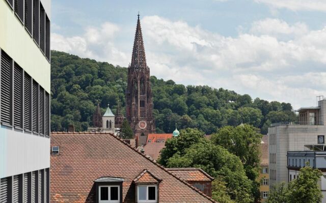
[[[49,138],[0,125],[0,178],[48,167]]]

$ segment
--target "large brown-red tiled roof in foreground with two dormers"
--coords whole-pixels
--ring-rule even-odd
[[[122,200],[135,202],[132,183],[144,170],[161,179],[159,202],[215,202],[113,134],[56,132],[52,146],[60,147],[58,155],[51,155],[52,202],[95,202],[94,181],[100,177],[123,178]]]

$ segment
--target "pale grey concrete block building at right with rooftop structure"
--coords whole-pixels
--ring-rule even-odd
[[[269,137],[269,186],[288,182],[288,151],[305,151],[308,145],[324,144],[326,100],[318,97],[317,107],[300,108],[299,122],[272,124]]]

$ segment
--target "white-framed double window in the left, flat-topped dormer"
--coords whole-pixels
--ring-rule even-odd
[[[105,185],[98,187],[98,202],[99,203],[119,203],[120,188],[118,185]]]

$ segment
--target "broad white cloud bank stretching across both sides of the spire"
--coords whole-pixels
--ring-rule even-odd
[[[253,22],[248,31],[241,29],[237,37],[224,37],[159,16],[145,16],[141,22],[147,64],[158,78],[223,87],[290,102],[294,108],[315,105],[316,95],[326,95],[326,27],[309,30],[301,22],[267,18]],[[118,44],[121,30],[104,23],[87,27],[80,36],[52,33],[52,48],[126,65],[132,42]]]

